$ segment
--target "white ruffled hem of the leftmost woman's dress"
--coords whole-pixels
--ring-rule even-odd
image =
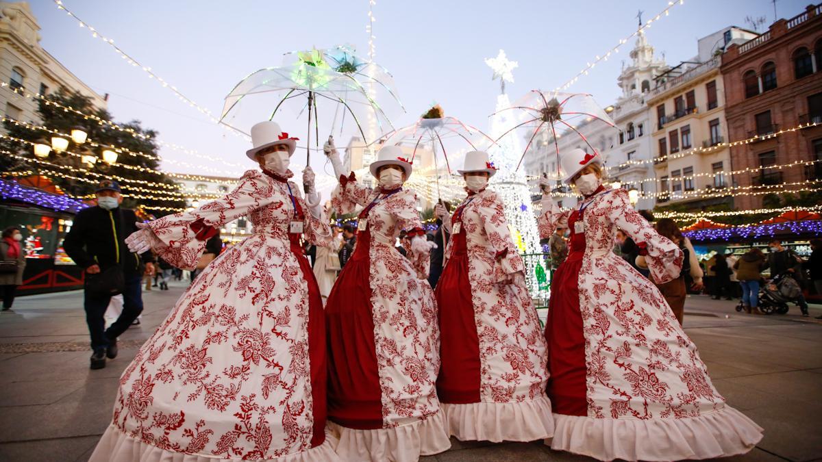
[[[326,430],[326,441],[320,446],[275,459],[252,459],[256,462],[342,462],[334,452],[335,438]],[[106,428],[97,443],[89,462],[217,462],[225,459],[220,455],[185,454],[164,450],[136,438],[129,437],[113,423]]]

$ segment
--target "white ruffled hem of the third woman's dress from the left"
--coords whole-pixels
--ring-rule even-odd
[[[459,441],[536,441],[554,434],[547,396],[521,403],[441,404],[448,430]]]

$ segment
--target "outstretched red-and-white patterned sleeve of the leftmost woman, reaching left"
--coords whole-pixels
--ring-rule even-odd
[[[167,215],[149,223],[154,249],[165,261],[192,269],[217,228],[274,201],[273,187],[258,170],[248,170],[232,192],[194,210]]]

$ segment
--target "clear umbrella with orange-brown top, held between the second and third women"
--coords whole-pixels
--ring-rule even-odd
[[[411,160],[417,155],[421,147],[430,147],[434,153],[436,169],[436,192],[440,192],[440,167],[438,157],[445,160],[448,174],[451,174],[449,150],[470,148],[471,150],[487,149],[487,146],[496,142],[478,128],[471,127],[455,117],[446,117],[439,105],[434,106],[422,117],[408,127],[399,128],[386,133],[381,137],[382,144],[393,146],[409,146],[413,148]]]

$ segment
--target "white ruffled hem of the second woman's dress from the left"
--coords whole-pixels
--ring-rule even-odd
[[[429,418],[399,427],[358,430],[329,421],[328,428],[342,460],[416,461],[421,455],[439,454],[451,447],[445,416],[440,409]]]

